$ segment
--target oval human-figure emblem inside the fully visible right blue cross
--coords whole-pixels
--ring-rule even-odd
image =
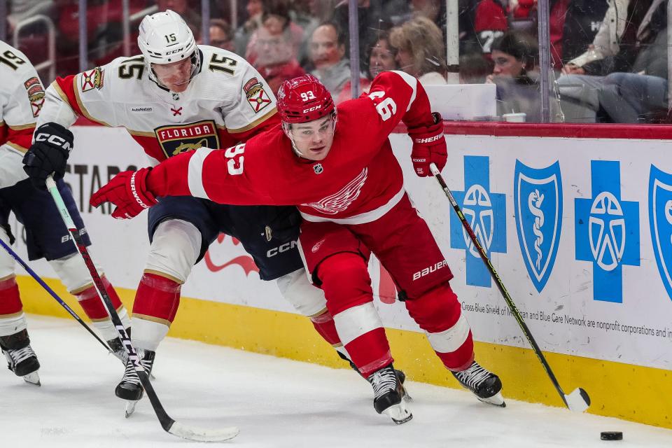
[[[625,250],[625,218],[613,193],[603,191],[593,200],[588,225],[593,259],[605,271],[616,269]]]

